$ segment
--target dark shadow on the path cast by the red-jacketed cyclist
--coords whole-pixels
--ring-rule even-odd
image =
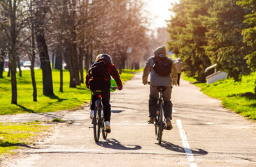
[[[104,148],[112,148],[115,150],[140,150],[140,145],[122,145],[119,141],[115,140],[114,138],[108,138],[106,141],[99,141],[97,145],[104,147]]]

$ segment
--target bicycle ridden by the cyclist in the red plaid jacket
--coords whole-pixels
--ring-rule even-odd
[[[111,87],[112,90],[116,90],[117,88],[118,87]],[[94,141],[98,142],[101,132],[104,139],[107,138],[108,134],[106,133],[101,90],[97,90],[94,93],[94,95],[97,95],[98,99],[95,102],[94,117],[92,119],[92,128],[94,133]]]

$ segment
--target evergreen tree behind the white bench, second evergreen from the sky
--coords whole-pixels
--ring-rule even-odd
[[[209,0],[210,17],[204,17],[207,26],[208,47],[206,54],[219,70],[226,71],[235,81],[241,81],[241,74],[250,71],[244,60],[248,47],[243,43],[241,30],[246,28],[243,23],[246,10],[236,5],[234,0]]]

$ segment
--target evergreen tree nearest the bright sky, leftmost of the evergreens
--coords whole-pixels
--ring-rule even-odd
[[[204,51],[207,30],[200,19],[208,15],[207,10],[205,0],[181,0],[173,6],[176,16],[169,23],[169,50],[183,59],[186,74],[196,75],[198,81],[205,81],[204,70],[211,65]]]

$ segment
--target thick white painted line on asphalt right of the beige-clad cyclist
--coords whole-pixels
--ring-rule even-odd
[[[176,120],[176,122],[177,122],[178,129],[180,131],[181,141],[183,142],[183,148],[187,154],[187,159],[188,161],[191,162],[190,167],[197,167],[197,164],[194,163],[194,155],[192,154],[192,150],[190,149],[190,145],[188,144],[187,136],[185,134],[185,130],[183,129],[181,120]]]

